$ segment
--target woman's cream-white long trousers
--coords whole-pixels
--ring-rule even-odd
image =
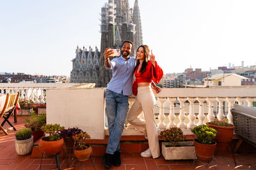
[[[157,125],[154,116],[156,98],[151,87],[138,87],[137,98],[127,113],[127,122],[140,132],[147,130],[148,145],[153,158],[160,156]],[[143,111],[145,120],[138,118]]]

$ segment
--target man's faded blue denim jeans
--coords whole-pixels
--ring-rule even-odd
[[[109,140],[106,153],[120,151],[120,138],[124,130],[129,103],[128,96],[106,90],[106,111],[108,117]]]

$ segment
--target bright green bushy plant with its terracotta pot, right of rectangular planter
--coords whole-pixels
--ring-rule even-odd
[[[213,138],[216,136],[217,131],[209,127],[209,125],[198,125],[191,131],[196,135],[194,145],[197,158],[207,162],[211,161],[216,148],[216,142]]]

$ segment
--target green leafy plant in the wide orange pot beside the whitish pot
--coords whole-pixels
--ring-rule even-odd
[[[46,124],[41,127],[41,130],[44,131],[49,136],[45,137],[45,141],[58,141],[61,139],[59,132],[63,130],[64,127],[61,127],[60,124]]]

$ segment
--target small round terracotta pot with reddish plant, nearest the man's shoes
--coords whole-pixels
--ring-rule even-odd
[[[92,155],[92,146],[86,144],[85,139],[90,139],[90,135],[86,132],[81,132],[73,136],[75,141],[74,144],[74,155],[79,160],[86,160]]]

